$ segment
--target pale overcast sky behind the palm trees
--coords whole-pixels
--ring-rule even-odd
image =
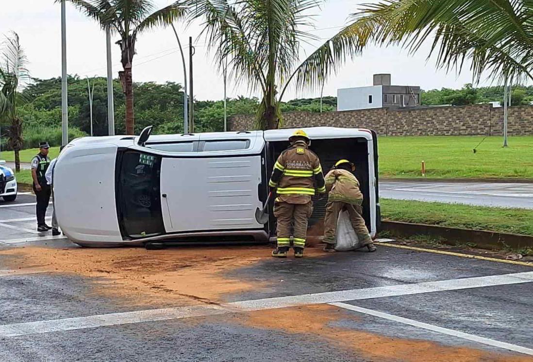
[[[350,13],[357,10],[358,4],[372,0],[330,0],[322,6],[315,18],[316,29],[313,33],[322,39],[335,34],[345,24]],[[154,0],[157,7],[163,7],[170,0]],[[51,78],[61,75],[61,6],[54,0],[3,1],[0,14],[0,34],[18,32],[20,41],[30,61],[31,76]],[[199,34],[199,24],[187,29],[177,27],[182,44],[193,43]],[[112,39],[115,42],[117,39]],[[67,3],[67,71],[79,76],[106,76],[106,38],[98,25],[80,14]],[[305,45],[301,54],[311,52],[314,44]],[[114,77],[122,70],[118,45],[112,45]],[[426,48],[427,50],[427,48]],[[137,55],[133,62],[134,81],[175,81],[183,83],[182,62],[177,50],[176,39],[171,28],[157,29],[143,34],[136,44]],[[188,51],[185,50],[186,56]],[[423,89],[441,87],[460,88],[472,80],[469,69],[460,75],[436,71],[434,61],[426,61],[427,51],[414,56],[399,48],[369,47],[362,56],[344,65],[338,74],[324,87],[324,95],[336,95],[338,88],[372,85],[374,73],[391,73],[395,85],[421,86]],[[484,83],[487,84],[487,83]],[[207,54],[203,39],[196,43],[194,57],[194,91],[198,100],[217,100],[223,97],[222,77],[213,67],[212,58]],[[250,96],[246,85],[229,84],[228,96]],[[301,97],[319,96],[320,92],[286,93],[285,100]]]

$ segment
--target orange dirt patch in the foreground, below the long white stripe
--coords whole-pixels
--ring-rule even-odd
[[[365,325],[357,315],[329,305],[314,305],[249,312],[231,316],[233,322],[262,328],[300,334],[302,340],[325,341],[338,348],[356,353],[373,361],[405,362],[478,362],[508,361],[531,362],[530,357],[506,355],[467,347],[392,338],[362,331]],[[361,330],[336,326],[340,320],[361,323]]]

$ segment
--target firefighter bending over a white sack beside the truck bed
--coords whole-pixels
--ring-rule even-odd
[[[359,181],[352,174],[355,170],[356,167],[352,162],[340,160],[326,175],[326,191],[329,195],[324,220],[325,251],[335,251],[337,220],[339,213],[343,210],[348,211],[352,227],[359,237],[361,246],[366,246],[368,251],[376,251],[365,220],[361,216],[363,194],[359,189]]]

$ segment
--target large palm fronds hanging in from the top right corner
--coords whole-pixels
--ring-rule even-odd
[[[428,57],[436,55],[438,68],[461,71],[468,61],[475,82],[484,74],[500,84],[531,80],[531,19],[531,0],[383,0],[352,14],[348,26],[311,54],[298,79],[334,71],[339,63],[325,62],[327,52],[339,57],[372,43],[414,53],[430,43]]]

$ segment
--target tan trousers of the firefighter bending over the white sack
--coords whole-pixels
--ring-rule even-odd
[[[326,217],[324,220],[324,242],[335,244],[335,234],[337,232],[337,220],[341,211],[348,211],[352,227],[359,237],[361,246],[372,243],[372,237],[368,233],[365,219],[362,218],[362,208],[360,205],[352,205],[345,202],[328,202],[326,205]]]

